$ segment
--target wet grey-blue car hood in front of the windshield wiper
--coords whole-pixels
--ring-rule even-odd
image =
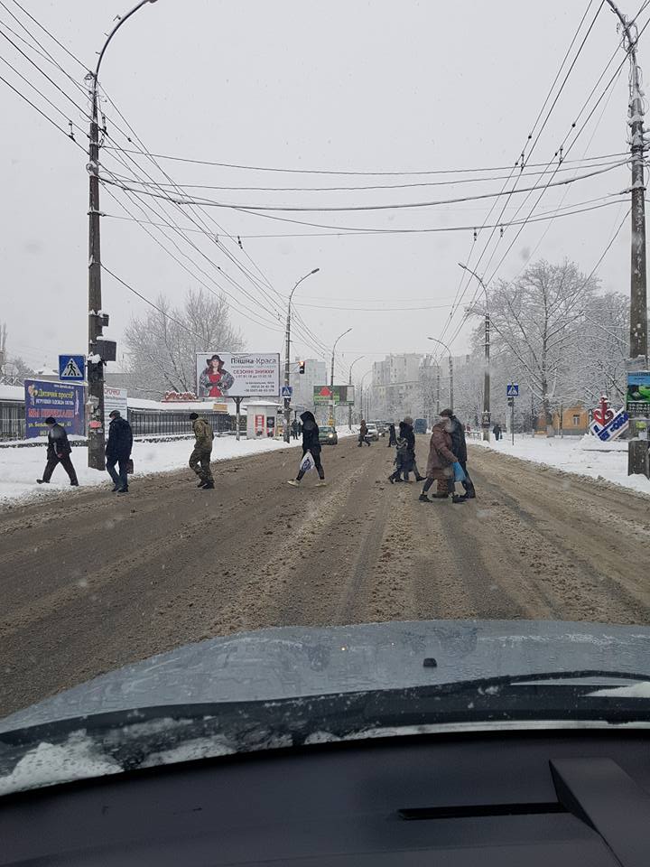
[[[267,701],[585,669],[650,674],[650,628],[423,620],[242,632],[98,676],[5,717],[0,732],[153,705]]]

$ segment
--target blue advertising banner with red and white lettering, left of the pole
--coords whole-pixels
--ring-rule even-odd
[[[71,382],[25,379],[25,436],[47,436],[52,415],[66,433],[86,433],[84,386]]]

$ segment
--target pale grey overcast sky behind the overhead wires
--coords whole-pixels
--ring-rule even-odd
[[[14,0],[4,2],[74,79],[82,82],[83,70],[23,17]],[[22,3],[88,65],[96,62],[95,52],[114,16],[125,13],[132,5],[128,0]],[[573,54],[598,5],[591,4]],[[624,11],[635,14],[641,5],[641,0],[636,0],[636,5]],[[439,0],[330,0],[328,4],[312,0],[158,0],[145,5],[116,35],[107,50],[100,83],[155,154],[339,172],[433,172],[506,166],[514,163],[521,152],[586,7],[586,0],[525,4],[521,0],[489,4],[484,0],[466,0],[463,4]],[[650,8],[640,22],[645,23],[648,15]],[[17,28],[2,7],[0,21]],[[604,8],[535,146],[531,163],[545,164],[552,159],[616,50],[618,39],[616,20]],[[639,51],[642,66],[649,39],[650,29]],[[52,89],[12,46],[5,40],[1,42],[0,56],[37,84],[67,117],[85,128],[81,112]],[[619,51],[595,98],[623,57],[623,51]],[[64,84],[65,79],[45,61],[41,64]],[[13,71],[5,64],[0,66],[1,75],[29,94],[27,85]],[[86,107],[83,95],[70,82],[66,89],[80,106]],[[10,352],[23,355],[34,366],[42,362],[54,365],[59,352],[84,351],[87,345],[87,158],[2,82],[0,94],[4,122],[0,141],[4,191],[0,320],[8,326]],[[31,97],[58,123],[67,126],[64,117],[33,93]],[[115,109],[108,104],[105,108],[109,135],[118,144],[130,146],[113,126],[115,121],[124,127]],[[580,134],[569,159],[625,151],[626,113],[627,66],[611,89],[610,98],[600,103]],[[581,121],[577,128],[580,125]],[[76,137],[81,144],[87,144],[83,133],[78,131]],[[604,162],[615,160],[608,158]],[[126,174],[114,154],[104,151],[102,163],[109,171]],[[453,178],[253,172],[162,160],[160,163],[174,182],[222,187],[440,183]],[[157,181],[162,180],[151,163],[147,166],[140,160],[140,164]],[[565,164],[564,168],[571,171],[559,172],[556,180],[588,171],[580,164]],[[478,172],[476,177],[491,174],[499,178],[482,183],[376,191],[192,192],[247,206],[396,204],[496,191],[504,184],[501,178],[506,173]],[[519,185],[528,187],[535,182],[540,183],[540,178],[531,176]],[[628,169],[620,166],[569,187],[549,189],[535,213],[552,210],[561,203],[566,206],[600,199],[628,185]],[[129,210],[141,214],[124,192],[115,192]],[[519,216],[528,214],[538,195],[533,194]],[[503,219],[512,216],[524,199],[525,195],[514,196]],[[601,210],[527,226],[497,276],[513,278],[532,254],[550,260],[568,256],[589,273],[627,212],[626,200],[615,201]],[[429,208],[361,212],[283,211],[273,212],[273,216],[346,228],[480,227],[493,202],[474,200]],[[151,204],[161,207],[159,200]],[[497,205],[496,214],[502,204]],[[104,190],[101,207],[107,214],[124,216]],[[193,228],[190,219],[167,207],[178,223]],[[190,217],[198,219],[196,215]],[[352,327],[353,331],[339,344],[344,352],[341,369],[357,355],[366,354],[367,358],[355,368],[357,373],[363,373],[373,360],[388,352],[431,350],[427,336],[441,334],[459,288],[461,272],[457,263],[468,261],[469,256],[471,262],[477,262],[489,235],[488,230],[480,231],[476,244],[471,230],[254,238],[250,236],[295,236],[329,230],[222,208],[210,208],[209,217],[224,232],[241,236],[243,250],[227,242],[228,248],[247,269],[261,269],[279,295],[285,297],[301,275],[320,267],[320,273],[299,288],[295,302],[301,306],[297,310],[327,345],[341,331]],[[203,219],[218,232],[209,218]],[[506,229],[486,267],[492,252],[488,247],[478,264],[481,274],[492,275],[516,230]],[[201,276],[196,269],[195,275],[215,289],[216,279],[234,295],[232,318],[244,331],[247,348],[282,350],[279,308],[283,302],[278,294],[262,294],[215,247],[213,240],[200,234],[191,237],[200,250],[253,296],[251,300],[225,282],[199,252],[183,247],[177,238],[209,277]],[[198,286],[198,281],[167,256],[143,228],[129,220],[103,219],[102,259],[152,300],[162,292],[180,301],[186,290]],[[599,267],[599,277],[604,289],[628,292],[627,223]],[[474,288],[471,284],[464,300],[469,300]],[[255,312],[258,322],[247,318],[242,303]],[[373,310],[336,309],[364,306]],[[400,306],[430,309],[390,309]],[[120,353],[124,350],[121,336],[125,324],[133,315],[143,314],[146,305],[104,275],[103,309],[111,316],[106,336],[118,341]],[[455,315],[445,339],[457,332],[461,314]],[[465,350],[468,336],[466,326],[455,337],[453,350]],[[296,332],[295,337],[295,353],[316,355],[303,334]]]

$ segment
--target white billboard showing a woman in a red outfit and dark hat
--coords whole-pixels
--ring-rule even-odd
[[[279,352],[198,352],[197,394],[219,397],[277,397]]]

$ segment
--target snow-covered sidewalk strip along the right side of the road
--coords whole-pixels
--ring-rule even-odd
[[[544,437],[515,434],[515,444],[507,434],[497,441],[490,434],[490,443],[470,440],[471,445],[511,454],[525,461],[543,463],[548,467],[581,476],[590,476],[621,485],[624,488],[650,494],[650,480],[645,476],[627,475],[627,443],[600,443],[590,435],[585,437]]]

